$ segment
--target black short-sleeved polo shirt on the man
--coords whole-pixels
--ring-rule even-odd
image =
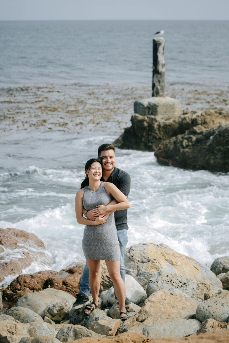
[[[101,178],[105,181],[104,178]],[[125,196],[128,197],[130,192],[130,176],[122,169],[114,167],[111,175],[106,180],[114,184]],[[117,230],[128,229],[127,225],[127,209],[121,211],[115,211],[115,225]]]

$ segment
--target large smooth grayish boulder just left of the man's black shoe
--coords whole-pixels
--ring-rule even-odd
[[[54,288],[46,288],[43,291],[36,293],[28,293],[20,298],[16,306],[22,306],[30,308],[32,311],[36,312],[41,317],[45,315],[45,308],[50,305],[53,301],[57,300],[70,300],[72,304],[75,298],[64,291]]]

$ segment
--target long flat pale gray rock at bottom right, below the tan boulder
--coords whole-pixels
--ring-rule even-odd
[[[175,336],[177,338],[190,336],[196,333],[201,327],[201,323],[195,319],[166,319],[165,321],[156,322],[142,330],[142,333],[150,337],[167,337]]]

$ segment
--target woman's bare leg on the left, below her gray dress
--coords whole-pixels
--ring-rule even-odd
[[[91,289],[92,301],[98,305],[99,304],[99,289],[100,289],[100,280],[99,280],[99,270],[100,270],[100,260],[88,260],[87,264],[89,268],[89,285]],[[91,304],[95,308],[93,304]],[[90,310],[84,310],[85,313],[89,314]]]

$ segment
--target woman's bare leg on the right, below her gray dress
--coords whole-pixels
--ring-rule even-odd
[[[114,290],[119,303],[119,312],[126,312],[126,287],[120,274],[119,261],[105,261],[108,273],[114,285]],[[121,317],[125,315],[122,314]]]

